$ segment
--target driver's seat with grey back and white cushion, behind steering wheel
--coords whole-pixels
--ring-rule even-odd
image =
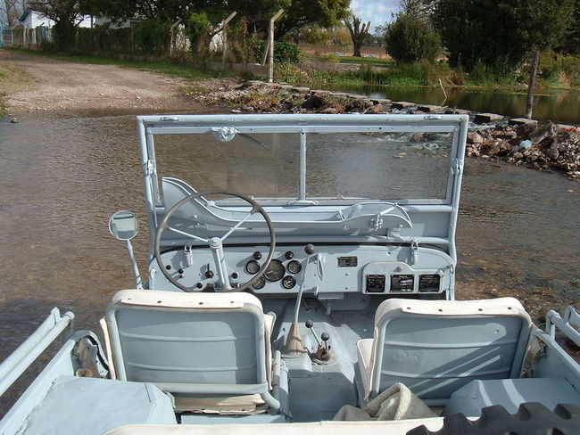
[[[105,320],[117,379],[152,382],[175,397],[177,411],[278,413],[285,382],[279,352],[272,373],[273,317],[255,296],[120,291]]]

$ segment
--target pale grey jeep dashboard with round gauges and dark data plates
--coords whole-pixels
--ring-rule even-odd
[[[434,247],[385,244],[277,244],[269,267],[250,290],[259,294],[295,295],[302,290],[325,299],[344,293],[441,293],[450,289],[452,259]],[[250,281],[268,254],[266,245],[224,247],[228,278],[233,287]],[[213,256],[207,247],[167,250],[164,267],[192,291],[220,291]],[[152,288],[172,289],[172,284],[152,269]]]

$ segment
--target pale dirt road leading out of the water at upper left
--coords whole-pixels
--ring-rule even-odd
[[[32,78],[4,86],[10,113],[87,110],[187,110],[200,104],[179,92],[189,82],[113,65],[56,61],[0,51],[0,63]]]

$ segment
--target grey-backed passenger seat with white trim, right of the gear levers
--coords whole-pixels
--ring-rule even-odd
[[[513,298],[385,300],[357,343],[361,392],[402,382],[430,406],[474,379],[518,377],[532,322]]]

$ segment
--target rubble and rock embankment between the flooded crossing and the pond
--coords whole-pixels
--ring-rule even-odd
[[[463,113],[469,114],[468,156],[501,159],[536,169],[556,169],[580,180],[580,128],[462,111],[443,106],[392,102],[364,95],[313,90],[258,80],[197,89],[200,103],[233,106],[233,113]]]

